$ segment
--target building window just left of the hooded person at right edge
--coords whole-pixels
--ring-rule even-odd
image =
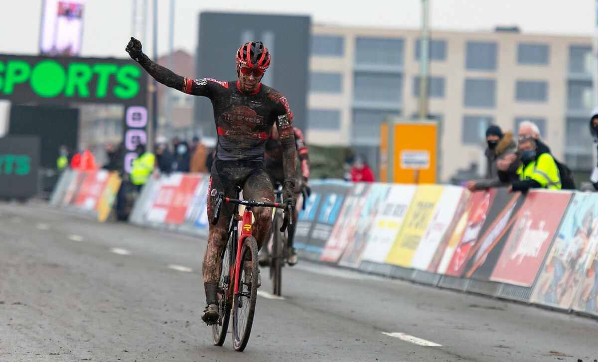
[[[590,171],[593,140],[588,131],[587,118],[567,118],[565,134],[565,163],[576,171]],[[595,151],[594,151],[595,152]]]

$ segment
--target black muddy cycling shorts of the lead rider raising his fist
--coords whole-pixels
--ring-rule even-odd
[[[272,183],[266,172],[264,161],[222,161],[215,159],[212,164],[212,176],[208,188],[208,220],[212,226],[214,208],[218,194],[224,191],[224,197],[237,198],[237,187],[242,188],[245,200],[274,202]],[[234,204],[223,203],[220,207],[216,226],[228,229]]]

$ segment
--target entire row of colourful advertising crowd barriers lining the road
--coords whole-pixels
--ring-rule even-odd
[[[99,212],[114,201],[100,191],[107,178],[63,173],[51,203]],[[205,237],[208,185],[209,174],[151,178],[129,221]],[[295,247],[330,265],[598,317],[591,192],[315,180]]]

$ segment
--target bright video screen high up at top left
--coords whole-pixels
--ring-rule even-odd
[[[39,53],[78,56],[83,35],[84,0],[44,0]]]

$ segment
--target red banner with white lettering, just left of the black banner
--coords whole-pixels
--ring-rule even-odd
[[[486,214],[490,208],[490,204],[494,201],[496,189],[489,189],[488,191],[475,191],[471,197],[471,208],[468,212],[465,229],[457,241],[449,243],[441,260],[441,265],[438,267],[440,273],[451,275],[453,277],[460,277],[465,272],[467,266],[467,256],[469,250],[478,240],[482,225],[486,221]]]

